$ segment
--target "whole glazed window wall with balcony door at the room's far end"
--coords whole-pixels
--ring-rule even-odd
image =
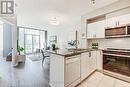
[[[35,53],[36,49],[46,48],[47,31],[18,27],[18,45],[25,50],[23,54]]]

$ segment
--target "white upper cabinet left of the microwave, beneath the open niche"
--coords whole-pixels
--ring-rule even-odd
[[[87,38],[104,38],[105,37],[105,20],[93,22],[87,25]]]

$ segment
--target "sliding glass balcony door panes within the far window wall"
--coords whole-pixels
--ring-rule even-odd
[[[40,36],[34,34],[25,34],[26,54],[35,53],[36,49],[40,49]]]

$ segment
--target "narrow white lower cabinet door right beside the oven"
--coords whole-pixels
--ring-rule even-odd
[[[102,51],[97,51],[97,69],[102,71],[103,70],[103,56]]]

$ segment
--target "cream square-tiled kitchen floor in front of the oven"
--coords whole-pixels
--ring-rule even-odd
[[[95,72],[78,87],[130,87],[130,83]]]

